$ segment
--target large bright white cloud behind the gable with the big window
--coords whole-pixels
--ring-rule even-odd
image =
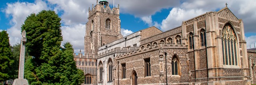
[[[180,6],[172,8],[170,14],[162,21],[161,29],[170,30],[181,26],[182,21],[199,16],[206,12],[220,10],[228,3],[228,8],[238,19],[243,19],[245,32],[256,32],[256,0],[186,0]],[[253,10],[253,11],[252,11]]]

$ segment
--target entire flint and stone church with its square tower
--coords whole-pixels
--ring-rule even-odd
[[[243,21],[227,7],[165,32],[153,26],[128,36],[119,16],[119,5],[106,0],[89,8],[84,54],[74,53],[84,85],[256,83],[256,51],[247,51]]]

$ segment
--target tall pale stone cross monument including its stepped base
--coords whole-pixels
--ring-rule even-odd
[[[26,31],[22,32],[22,39],[20,40],[20,66],[18,79],[15,79],[12,85],[28,85],[28,80],[24,79],[24,62],[25,62],[25,43],[27,41]]]

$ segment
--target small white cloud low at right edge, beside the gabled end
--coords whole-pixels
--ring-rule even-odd
[[[256,44],[256,36],[245,37],[245,41],[247,49],[250,49],[250,46],[251,48],[254,48],[254,43]]]

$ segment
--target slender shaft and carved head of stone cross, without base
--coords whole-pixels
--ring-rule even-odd
[[[26,31],[22,32],[22,38],[20,40],[20,66],[19,66],[19,79],[24,78],[24,62],[25,62],[25,43],[27,41]]]

